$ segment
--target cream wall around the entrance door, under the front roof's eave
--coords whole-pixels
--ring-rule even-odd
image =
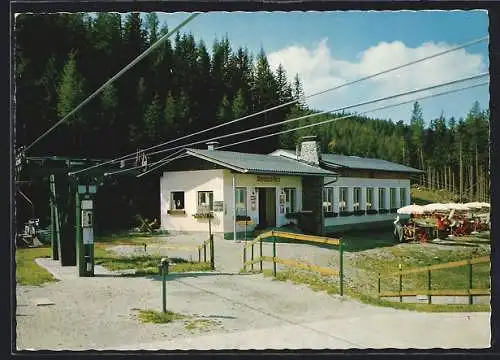
[[[302,208],[302,178],[300,176],[277,176],[279,182],[258,182],[257,175],[254,174],[234,174],[236,187],[246,187],[247,188],[247,215],[252,218],[254,224],[248,226],[247,229],[250,231],[255,228],[255,225],[259,222],[259,196],[256,188],[259,187],[274,187],[276,188],[276,225],[282,226],[289,223],[289,220],[285,218],[285,214],[280,213],[279,209],[279,195],[283,188],[296,188],[297,189],[297,199],[296,207],[297,209]],[[255,191],[256,194],[256,207],[255,211],[251,210],[250,206],[250,196],[252,192]],[[224,232],[233,232],[233,174],[229,170],[224,170]],[[245,230],[245,225],[236,225],[236,232],[242,232]]]

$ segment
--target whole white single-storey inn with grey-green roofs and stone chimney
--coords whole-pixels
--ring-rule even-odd
[[[166,165],[162,230],[206,233],[210,226],[236,239],[291,222],[313,234],[387,223],[395,218],[391,212],[409,204],[409,176],[420,173],[383,160],[321,154],[314,138],[304,138],[296,152],[269,155],[214,145],[185,149],[185,157]]]

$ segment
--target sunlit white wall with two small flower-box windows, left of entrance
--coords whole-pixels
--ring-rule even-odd
[[[198,191],[213,191],[214,202],[222,201],[224,186],[223,170],[169,171],[160,178],[161,229],[170,231],[206,231],[208,219],[196,219]],[[184,191],[185,215],[169,215],[171,192]],[[224,229],[224,212],[214,212],[212,231]]]

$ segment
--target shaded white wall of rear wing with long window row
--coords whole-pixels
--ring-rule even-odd
[[[334,178],[325,178],[325,184],[328,184]],[[340,187],[348,188],[348,204],[347,211],[353,211],[353,189],[354,187],[361,188],[360,209],[365,209],[366,205],[366,188],[373,188],[373,209],[379,208],[378,204],[378,189],[385,188],[385,208],[390,209],[390,188],[396,188],[396,207],[402,207],[410,203],[410,180],[402,179],[371,179],[371,178],[349,178],[339,177],[338,181],[325,185],[325,187],[333,187],[333,212],[339,212],[339,192]],[[405,188],[406,204],[400,204],[400,188]],[[394,213],[388,214],[371,214],[371,215],[350,215],[326,217],[325,226],[348,225],[365,222],[387,221],[393,220],[396,217]],[[401,217],[401,216],[400,216]],[[404,216],[403,216],[404,217]]]

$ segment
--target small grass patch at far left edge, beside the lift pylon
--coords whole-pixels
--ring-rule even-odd
[[[19,285],[42,285],[57,281],[51,273],[37,265],[35,259],[50,257],[50,247],[21,248],[16,250],[16,282]]]

